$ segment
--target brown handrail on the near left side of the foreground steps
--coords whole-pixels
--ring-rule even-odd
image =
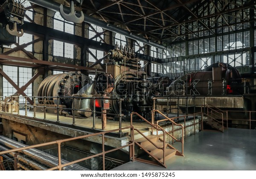
[[[153,157],[155,160],[157,160],[157,162],[159,162],[160,164],[162,164],[164,167],[166,167],[166,165],[165,165],[165,131],[164,130],[162,130],[162,129],[158,129],[157,127],[155,127],[154,126],[154,124],[152,124],[151,122],[149,122],[147,119],[145,119],[145,118],[143,118],[143,116],[142,115],[140,115],[140,114],[138,114],[138,113],[136,113],[136,112],[131,112],[131,126],[133,126],[132,125],[132,116],[133,115],[137,115],[138,117],[140,117],[143,121],[145,121],[145,122],[147,122],[149,125],[151,125],[151,127],[153,127],[154,129],[156,129],[156,130],[161,130],[161,131],[163,131],[163,147],[158,147],[156,144],[154,144],[154,142],[152,142],[150,139],[148,139],[148,137],[146,137],[142,132],[140,132],[140,130],[137,130],[136,128],[134,128],[134,130],[136,130],[138,133],[140,133],[145,139],[147,139],[151,144],[153,144],[155,147],[157,147],[157,149],[161,149],[161,150],[163,150],[163,162],[161,162],[159,159],[157,159],[155,156],[153,156],[150,152],[148,152],[147,150],[145,150],[144,148],[143,148],[143,146],[141,146],[138,142],[135,142],[134,141],[134,143],[136,143],[139,147],[141,147],[146,153],[148,153],[148,155],[150,155],[151,157]],[[133,160],[135,159],[134,158],[134,151],[132,152],[132,154],[133,154]]]

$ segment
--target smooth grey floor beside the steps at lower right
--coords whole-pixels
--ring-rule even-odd
[[[185,139],[184,154],[167,160],[167,168],[129,162],[114,170],[256,170],[256,130],[200,132]]]

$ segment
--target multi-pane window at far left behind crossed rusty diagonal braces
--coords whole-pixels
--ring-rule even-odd
[[[32,78],[32,68],[3,65],[3,72],[12,79],[18,87],[24,86]],[[17,90],[3,78],[3,96],[15,94]],[[27,96],[32,96],[32,84],[24,91]]]

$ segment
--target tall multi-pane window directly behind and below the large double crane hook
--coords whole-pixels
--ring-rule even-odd
[[[74,34],[74,23],[64,20],[59,12],[54,15],[53,29]],[[74,45],[53,40],[53,55],[65,58],[74,58]]]

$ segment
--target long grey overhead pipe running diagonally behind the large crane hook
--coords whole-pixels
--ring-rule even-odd
[[[54,1],[47,1],[47,0],[28,0],[28,1],[31,2],[31,3],[37,4],[39,6],[45,7],[47,9],[50,9],[52,11],[55,11],[55,12],[60,11],[60,5],[61,4],[56,3]],[[67,7],[67,6],[63,6],[63,10],[67,14],[70,12],[69,7]],[[96,19],[96,18],[91,17],[87,14],[84,14],[84,22],[91,23],[91,24],[94,24],[96,26],[100,26],[103,29],[107,29],[109,31],[119,33],[119,34],[124,35],[128,38],[138,40],[138,41],[143,42],[143,43],[145,43],[147,45],[150,45],[150,46],[157,47],[158,49],[165,49],[165,46],[160,45],[159,43],[151,42],[150,40],[147,40],[143,37],[140,37],[139,35],[128,32],[125,29],[119,28],[117,26],[113,26],[109,23],[105,23],[103,20]]]

